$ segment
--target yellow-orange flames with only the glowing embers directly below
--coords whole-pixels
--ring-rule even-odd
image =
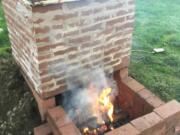
[[[97,118],[97,128],[84,127],[82,129],[83,135],[100,135],[108,130],[113,130],[111,123],[113,123],[114,106],[112,103],[112,89],[110,87],[104,88],[99,92],[99,89],[93,85],[89,86],[89,95],[94,97],[92,101],[93,117]],[[98,92],[97,92],[98,91]]]

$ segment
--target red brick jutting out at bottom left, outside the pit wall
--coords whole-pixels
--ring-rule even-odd
[[[34,128],[34,135],[50,135],[52,131],[47,123]]]

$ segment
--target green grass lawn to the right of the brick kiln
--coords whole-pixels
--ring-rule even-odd
[[[165,101],[180,101],[180,1],[136,3],[130,74]],[[166,51],[152,54],[158,47]]]

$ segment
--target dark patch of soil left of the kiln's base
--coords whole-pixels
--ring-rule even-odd
[[[40,124],[35,100],[12,57],[0,58],[0,134],[31,135]]]

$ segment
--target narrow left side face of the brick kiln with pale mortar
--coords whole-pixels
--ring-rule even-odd
[[[32,7],[22,0],[4,0],[12,54],[26,73],[34,89],[38,90],[40,75],[38,52],[33,32]]]

